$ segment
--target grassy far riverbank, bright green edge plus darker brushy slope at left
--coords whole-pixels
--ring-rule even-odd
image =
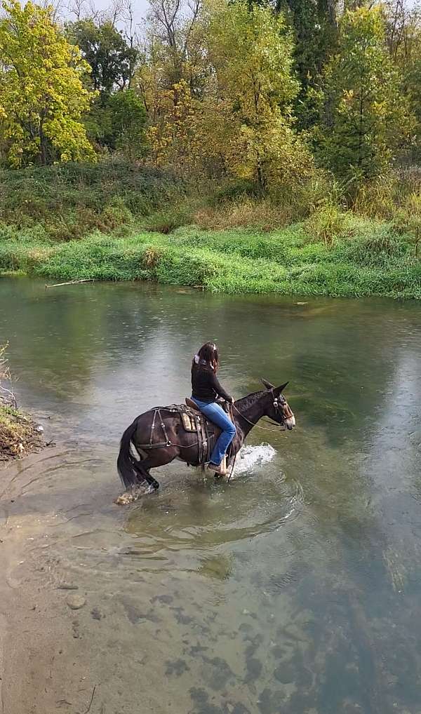
[[[254,221],[253,229],[177,228],[193,220],[195,204],[169,174],[121,161],[0,171],[0,273],[149,279],[228,293],[421,298],[413,236],[392,223],[333,209],[333,221],[322,212],[267,233],[259,211],[266,227],[276,223],[276,211],[241,201],[214,207],[212,221],[220,216],[227,226],[240,218]]]

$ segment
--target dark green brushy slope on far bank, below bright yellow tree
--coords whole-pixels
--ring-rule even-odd
[[[114,231],[140,216],[179,203],[185,187],[171,174],[113,159],[0,170],[0,222],[42,228],[68,241],[99,229]]]

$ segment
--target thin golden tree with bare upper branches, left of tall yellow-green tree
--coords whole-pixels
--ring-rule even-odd
[[[200,19],[200,21],[199,21]],[[153,0],[134,84],[148,117],[149,161],[175,171],[199,169],[197,113],[209,61],[199,1]]]

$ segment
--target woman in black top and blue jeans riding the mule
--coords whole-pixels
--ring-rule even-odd
[[[192,362],[192,400],[197,404],[204,416],[222,429],[217,443],[212,451],[207,468],[224,473],[223,458],[229,444],[235,436],[235,426],[220,404],[215,401],[222,396],[230,403],[234,398],[229,396],[217,380],[219,356],[217,346],[207,342],[194,355]]]

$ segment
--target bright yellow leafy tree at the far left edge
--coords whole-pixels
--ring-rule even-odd
[[[81,115],[89,66],[48,10],[4,0],[0,21],[0,133],[13,166],[94,159]]]

